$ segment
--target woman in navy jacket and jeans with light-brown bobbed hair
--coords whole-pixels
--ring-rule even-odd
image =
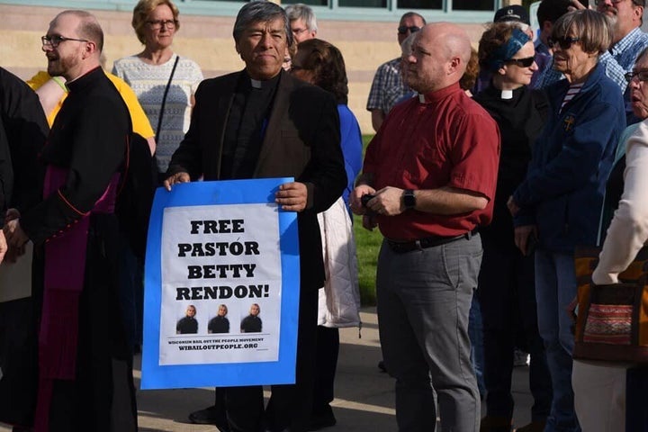
[[[572,320],[566,310],[576,296],[574,248],[597,242],[605,184],[626,128],[621,91],[598,62],[611,42],[608,19],[598,12],[574,11],[554,23],[554,69],[567,79],[546,88],[548,121],[526,179],[508,203],[520,250],[527,250],[531,238],[538,242],[538,329],[554,391],[546,431],[580,430],[572,391]]]

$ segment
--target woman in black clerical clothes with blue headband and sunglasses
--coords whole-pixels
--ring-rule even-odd
[[[494,23],[479,43],[479,62],[491,85],[474,100],[497,121],[501,134],[500,169],[493,221],[480,229],[482,271],[477,291],[482,308],[487,415],[482,432],[509,430],[513,419],[511,376],[516,347],[531,355],[529,387],[535,403],[532,422],[517,430],[542,432],[552,392],[543,341],[538,334],[533,250],[518,250],[507,200],[527,173],[532,148],[545,126],[544,92],[527,87],[537,70],[533,40],[509,23]],[[522,334],[524,344],[519,344]]]

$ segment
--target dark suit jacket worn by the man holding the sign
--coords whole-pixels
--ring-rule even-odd
[[[340,148],[338,108],[332,94],[282,70],[261,146],[255,178],[293,176],[306,184],[308,202],[298,214],[302,288],[324,285],[317,213],[327,210],[347,184]],[[167,174],[220,179],[223,139],[239,79],[236,72],[198,86],[189,131]]]

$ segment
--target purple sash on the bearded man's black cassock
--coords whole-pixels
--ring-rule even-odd
[[[43,305],[39,332],[39,393],[35,431],[49,430],[49,405],[54,380],[75,380],[78,345],[79,297],[85,279],[85,249],[91,213],[114,212],[120,174],[94,209],[61,229],[45,242]],[[65,184],[67,169],[48,166],[43,196],[58,193]]]

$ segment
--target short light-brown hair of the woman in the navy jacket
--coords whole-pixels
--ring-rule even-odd
[[[579,38],[581,48],[588,54],[602,54],[612,44],[612,28],[608,18],[590,9],[564,14],[554,23],[552,39],[561,39],[572,32]]]

